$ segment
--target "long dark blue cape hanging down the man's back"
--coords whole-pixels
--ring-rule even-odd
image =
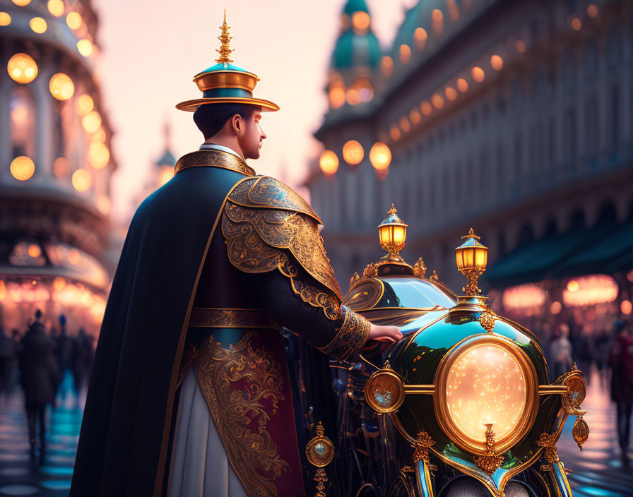
[[[95,352],[72,497],[162,493],[191,305],[225,197],[243,178],[183,169],[136,210]]]

